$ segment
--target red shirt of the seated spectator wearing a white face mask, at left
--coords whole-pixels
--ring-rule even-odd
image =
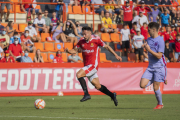
[[[11,50],[14,56],[19,56],[19,54],[22,53],[22,48],[20,44],[17,44],[17,46],[14,43],[9,45],[9,50]]]

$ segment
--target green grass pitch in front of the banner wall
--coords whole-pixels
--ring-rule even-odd
[[[34,101],[44,99],[43,110],[34,108]],[[52,100],[54,98],[54,100]],[[154,95],[118,95],[119,105],[114,106],[108,96],[91,96],[81,103],[82,96],[1,97],[0,120],[179,120],[180,95],[163,95],[164,108],[156,106]]]

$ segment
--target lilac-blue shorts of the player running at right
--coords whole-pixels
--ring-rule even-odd
[[[147,68],[144,72],[142,78],[148,80],[153,80],[156,82],[164,82],[166,80],[167,68],[166,66],[162,68]]]

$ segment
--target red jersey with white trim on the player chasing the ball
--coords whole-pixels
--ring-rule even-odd
[[[100,61],[99,46],[104,47],[105,43],[95,38],[91,38],[90,41],[82,39],[77,43],[76,47],[82,49],[84,66],[93,65],[98,69],[98,63]]]

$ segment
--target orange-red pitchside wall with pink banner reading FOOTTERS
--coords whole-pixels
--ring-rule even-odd
[[[101,63],[100,83],[117,94],[153,94],[153,86],[139,87],[148,63]],[[0,96],[83,95],[76,79],[82,63],[0,63]],[[163,94],[180,94],[180,64],[167,64],[168,84],[161,84]],[[101,95],[86,79],[91,95]]]

